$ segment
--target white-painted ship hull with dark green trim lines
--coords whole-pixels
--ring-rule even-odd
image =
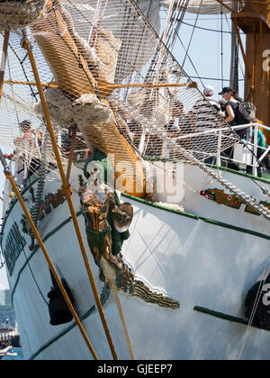
[[[74,181],[80,173],[77,168],[73,169]],[[229,175],[233,174],[226,173],[228,180]],[[248,186],[248,179],[233,176],[248,194],[266,201],[266,195],[256,184],[251,182]],[[195,216],[121,194],[121,202],[130,202],[134,209],[130,238],[122,247],[125,262],[136,278],[180,302],[178,310],[170,310],[119,292],[135,359],[269,359],[270,333],[266,330],[252,328],[250,337],[246,325],[193,310],[194,306],[200,306],[244,319],[245,296],[265,267],[269,267],[268,222],[262,216],[245,212],[244,204],[236,210],[206,200],[200,192],[220,186],[194,166],[184,167],[184,181],[197,191],[185,187],[182,202],[184,210]],[[260,184],[269,190],[269,184]],[[59,180],[48,181],[44,195],[57,193],[60,186]],[[26,203],[31,208],[31,194],[26,192],[24,198],[28,198]],[[80,211],[75,191],[72,198],[76,211]],[[42,298],[42,295],[47,296],[51,286],[49,268],[40,248],[35,252],[29,250],[31,239],[22,232],[22,214],[20,204],[16,202],[4,223],[2,247],[4,250],[6,237],[15,221],[26,245],[8,278],[23,356],[48,360],[91,359],[74,321],[57,327],[49,324],[48,306]],[[81,213],[78,213],[78,220],[101,293],[102,284],[87,245]],[[98,311],[93,309],[94,296],[67,201],[40,220],[39,230],[58,273],[65,277],[74,293],[77,313],[85,315],[83,325],[98,358],[112,359]],[[103,308],[119,359],[130,359],[112,293]]]

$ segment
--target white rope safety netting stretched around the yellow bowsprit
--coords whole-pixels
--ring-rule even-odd
[[[157,11],[149,18],[157,18]],[[46,17],[31,23],[27,33],[52,121],[64,128],[77,124],[88,148],[117,150],[123,161],[139,156],[184,159],[179,145],[203,160],[238,140],[132,1],[48,1]],[[37,122],[43,114],[40,103],[31,106],[36,87],[16,83],[22,77],[26,83],[34,82],[21,38],[12,34],[8,85],[12,90],[5,85],[4,92],[22,99],[23,106],[15,105],[14,99],[17,119],[22,120],[29,107]],[[115,105],[116,95],[126,104],[126,112]],[[11,129],[12,124],[17,127],[14,115],[8,120]],[[165,138],[145,127],[145,121],[157,124]],[[14,133],[4,135],[4,130],[3,139],[11,139]],[[166,139],[175,139],[175,147]]]

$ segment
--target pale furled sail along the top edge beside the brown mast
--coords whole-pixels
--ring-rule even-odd
[[[162,2],[166,7],[168,7],[170,3],[171,0],[165,0]],[[224,0],[222,3],[233,8],[233,1]],[[229,9],[218,3],[216,0],[190,0],[186,12],[191,14],[220,14],[221,12],[223,14],[229,14]]]

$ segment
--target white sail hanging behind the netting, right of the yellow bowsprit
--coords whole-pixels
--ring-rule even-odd
[[[149,23],[158,33],[160,28],[159,0],[139,0],[138,4]],[[93,32],[96,28],[99,29],[99,32],[102,28],[103,32],[112,33],[113,38],[118,41],[114,46],[114,57],[117,56],[117,67],[121,67],[121,69],[116,69],[115,83],[121,83],[124,78],[123,73],[125,76],[129,76],[134,70],[143,67],[151,58],[156,48],[155,42],[147,38],[146,25],[141,23],[136,14],[130,12],[129,7],[123,6],[121,0],[109,2],[75,0],[72,2],[72,6],[63,1],[63,5],[71,14],[78,35],[85,41],[93,38]]]

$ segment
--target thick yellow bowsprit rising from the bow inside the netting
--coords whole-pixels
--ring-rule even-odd
[[[58,89],[74,100],[82,94],[97,94],[102,103],[110,107],[105,97],[112,94],[115,85],[106,81],[103,72],[94,66],[94,61],[84,52],[71,17],[64,12],[58,0],[54,3],[49,0],[45,20],[32,24],[31,32],[48,62]],[[107,155],[113,154],[114,166],[117,168],[114,177],[116,180],[121,179],[123,191],[144,197],[141,159],[118,130],[116,122],[119,119],[115,112],[111,120],[109,123],[89,124],[84,128],[80,124],[77,126],[91,147],[101,149]],[[130,166],[130,169],[126,169],[126,166]]]

